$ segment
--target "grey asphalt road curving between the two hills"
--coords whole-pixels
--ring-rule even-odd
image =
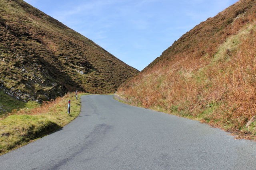
[[[174,115],[82,96],[61,130],[0,156],[0,170],[255,170],[256,143]]]

